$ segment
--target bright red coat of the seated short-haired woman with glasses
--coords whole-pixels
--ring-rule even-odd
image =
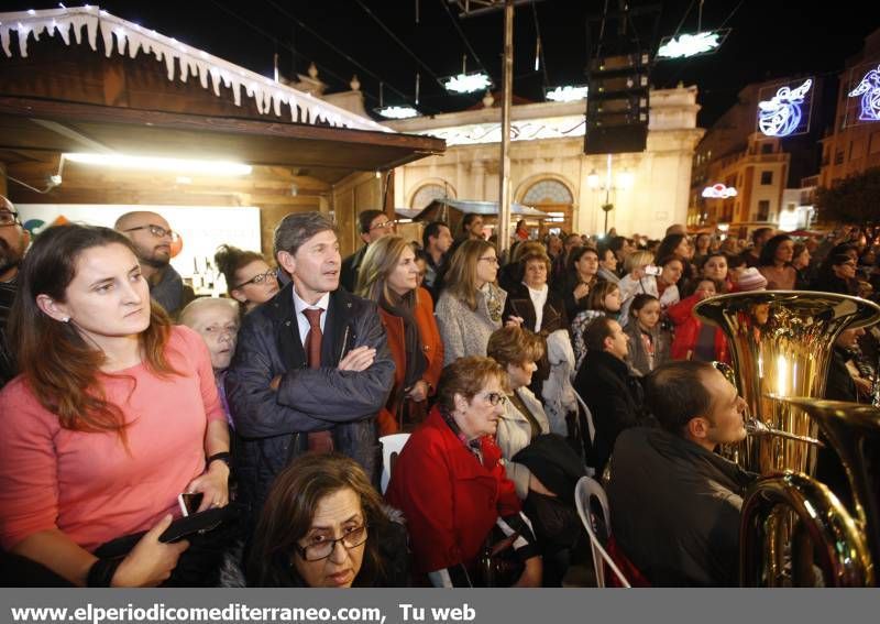
[[[472,568],[498,516],[520,510],[495,440],[481,442],[483,463],[435,406],[394,464],[385,497],[404,512],[417,573]]]

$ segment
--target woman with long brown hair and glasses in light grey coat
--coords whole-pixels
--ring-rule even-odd
[[[443,364],[486,354],[488,337],[502,327],[507,300],[507,293],[495,285],[497,275],[498,254],[486,241],[464,241],[452,254],[437,302]]]

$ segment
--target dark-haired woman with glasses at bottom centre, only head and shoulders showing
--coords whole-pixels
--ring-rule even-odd
[[[386,507],[361,466],[307,453],[272,485],[250,545],[250,587],[406,587],[400,514]]]

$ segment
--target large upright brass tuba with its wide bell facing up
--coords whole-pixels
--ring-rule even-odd
[[[769,395],[823,398],[837,336],[872,325],[880,307],[831,293],[757,291],[711,297],[694,314],[727,336],[735,385],[751,420],[746,440],[724,455],[760,474],[787,469],[812,474],[816,425]]]

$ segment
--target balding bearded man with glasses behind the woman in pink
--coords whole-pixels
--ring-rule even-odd
[[[125,212],[113,228],[134,244],[141,273],[150,284],[150,296],[170,315],[176,316],[184,302],[184,281],[169,264],[172,241],[178,238],[161,215],[139,210]]]

